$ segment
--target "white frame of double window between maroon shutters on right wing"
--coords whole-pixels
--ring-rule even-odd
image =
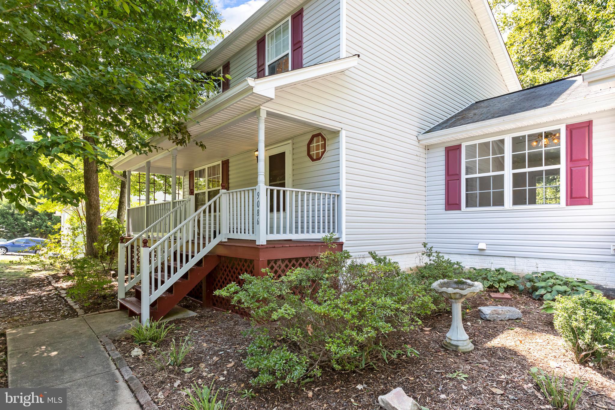
[[[536,132],[560,130],[560,165],[547,165],[546,167],[523,168],[515,172],[530,172],[560,167],[560,203],[547,205],[512,205],[512,138]],[[466,208],[466,145],[483,143],[485,141],[501,140],[504,138],[504,206],[503,207],[472,207]],[[478,175],[468,175],[469,178],[478,176],[496,175],[500,172],[490,172]],[[480,140],[464,141],[461,143],[461,210],[474,211],[501,211],[501,210],[528,210],[528,209],[558,209],[566,207],[566,124],[543,126],[533,130],[511,132],[504,135],[490,136]]]

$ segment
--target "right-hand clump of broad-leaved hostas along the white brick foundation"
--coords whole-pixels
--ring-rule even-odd
[[[593,285],[587,285],[587,280],[577,278],[566,278],[555,272],[532,272],[523,277],[519,290],[527,288],[534,299],[542,298],[545,301],[552,301],[556,296],[570,296],[584,294],[586,291],[601,293]]]

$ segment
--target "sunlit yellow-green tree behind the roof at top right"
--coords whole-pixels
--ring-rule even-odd
[[[523,87],[592,68],[615,44],[615,0],[490,0]]]

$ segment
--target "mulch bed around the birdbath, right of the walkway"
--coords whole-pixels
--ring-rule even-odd
[[[483,321],[479,306],[515,306],[522,320]],[[419,358],[398,358],[378,369],[355,372],[323,371],[323,377],[303,386],[254,388],[252,371],[242,365],[248,340],[241,336],[249,323],[233,313],[197,309],[196,317],[178,320],[177,328],[159,348],[168,350],[170,339],[191,336],[194,347],[181,369],[156,369],[151,355],[133,358],[130,339],[116,347],[161,409],[179,409],[185,401],[182,389],[191,383],[209,385],[229,393],[229,409],[378,409],[378,396],[402,387],[419,404],[431,410],[445,409],[549,409],[551,406],[534,387],[528,374],[532,366],[564,372],[569,380],[578,376],[590,382],[577,403],[578,409],[615,409],[615,373],[579,366],[563,347],[552,315],[540,312],[542,302],[528,296],[512,301],[494,301],[485,293],[470,299],[464,325],[475,350],[457,353],[443,349],[440,342],[450,326],[448,313],[424,320],[421,329],[399,334],[398,342],[411,345]],[[191,306],[194,309],[194,306]],[[160,358],[159,355],[156,356]],[[467,374],[467,380],[448,377],[454,371]],[[257,396],[242,398],[241,391],[252,388]],[[226,393],[225,393],[226,394]]]

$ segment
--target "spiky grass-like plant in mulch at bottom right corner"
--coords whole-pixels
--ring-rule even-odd
[[[585,384],[579,386],[579,383],[582,383],[581,379],[579,379],[579,377],[574,377],[573,385],[570,387],[570,390],[566,390],[566,377],[563,374],[561,375],[561,379],[555,376],[555,370],[549,376],[549,374],[542,371],[542,369],[531,368],[530,374],[536,381],[536,384],[538,384],[542,394],[556,409],[574,410],[576,408],[576,402],[581,397],[585,387],[589,384],[589,382],[585,382]]]

